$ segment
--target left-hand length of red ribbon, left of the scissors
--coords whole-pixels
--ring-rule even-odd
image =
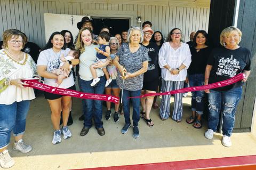
[[[38,90],[42,90],[42,91],[53,93],[53,94],[69,95],[69,96],[72,96],[75,98],[81,98],[81,99],[104,100],[104,101],[109,101],[113,103],[119,102],[119,98],[113,95],[83,93],[83,92],[69,90],[65,88],[52,87],[49,85],[45,85],[43,83],[39,83],[38,80],[36,79],[24,79],[21,81],[23,83],[29,84],[29,85],[24,85],[26,87],[36,88]]]

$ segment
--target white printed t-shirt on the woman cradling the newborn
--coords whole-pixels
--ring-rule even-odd
[[[52,48],[42,51],[37,59],[37,66],[47,66],[47,71],[52,72],[52,70],[58,69],[60,67],[60,57],[62,54],[64,56],[68,55],[70,51],[69,48],[66,50],[61,50],[59,53],[55,53]],[[73,74],[73,73],[72,73]],[[56,79],[44,78],[44,84],[55,87]],[[60,88],[69,88],[75,84],[73,75],[63,79],[63,82],[60,84]]]

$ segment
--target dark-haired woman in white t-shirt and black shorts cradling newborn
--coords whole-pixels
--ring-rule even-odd
[[[56,69],[61,69],[62,73],[68,73],[73,66],[79,63],[79,59],[76,59],[74,56],[74,59],[61,61],[61,58],[63,59],[67,55],[71,55],[71,52],[69,52],[70,49],[66,48],[65,38],[61,33],[52,33],[37,60],[38,75],[44,77],[44,83],[46,85],[75,90],[75,82],[72,72],[69,76],[63,78],[62,81],[58,81],[60,75],[58,76],[53,73]],[[63,62],[63,64],[60,67],[61,62]],[[49,102],[52,112],[51,119],[54,128],[52,143],[57,144],[61,142],[61,133],[63,133],[64,139],[68,139],[72,135],[67,126],[71,96],[63,96],[48,92],[45,92],[44,96]],[[60,129],[61,110],[63,114],[63,127]]]

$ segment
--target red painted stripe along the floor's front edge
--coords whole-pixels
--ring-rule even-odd
[[[256,169],[256,155],[173,161],[167,163],[86,168],[83,170],[180,170],[180,169]],[[82,170],[82,169],[81,169]]]

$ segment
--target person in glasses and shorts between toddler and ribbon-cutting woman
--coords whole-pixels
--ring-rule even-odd
[[[113,59],[116,56],[116,53],[119,49],[119,43],[116,37],[110,37],[109,40],[109,46],[110,46],[110,57],[111,57],[111,61],[107,66],[107,70],[109,72],[109,75],[112,77],[112,82],[105,88],[105,92],[108,95],[111,95],[111,92],[113,92],[114,96],[119,98],[119,93],[120,93],[120,88],[116,83],[116,77],[117,77],[117,69],[116,66],[113,64]],[[110,116],[111,116],[111,103],[110,102],[106,102],[107,103],[107,114],[105,116],[106,120],[110,120]],[[119,103],[115,103],[115,113],[114,113],[114,122],[118,122],[119,121]]]

